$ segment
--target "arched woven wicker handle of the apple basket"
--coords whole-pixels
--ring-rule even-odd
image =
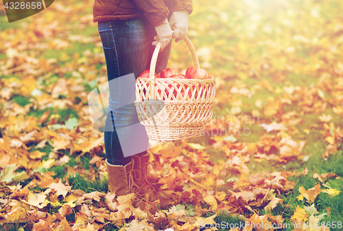
[[[191,43],[191,41],[189,40],[189,38],[187,36],[185,36],[183,38],[183,41],[185,41],[185,43],[187,44],[189,51],[191,52],[191,56],[193,58],[193,63],[194,63],[194,67],[196,68],[200,68],[199,65],[199,60],[198,60],[198,56],[196,55],[196,50],[193,47],[193,44]],[[170,41],[171,42],[171,41]],[[150,62],[150,73],[149,73],[149,82],[151,82],[152,80],[155,79],[155,69],[156,69],[156,63],[157,63],[157,57],[158,57],[158,53],[161,49],[161,43],[160,41],[158,41],[154,53],[152,54],[152,59]],[[154,91],[154,83],[152,83],[150,85],[150,89],[151,89],[151,93],[152,93],[152,98],[156,98],[155,97],[155,91]]]

